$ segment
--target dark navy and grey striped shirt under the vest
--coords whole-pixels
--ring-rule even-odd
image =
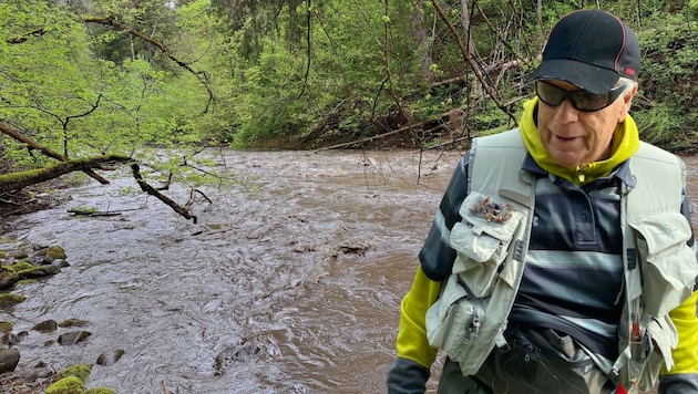
[[[462,218],[470,155],[463,156],[420,252],[424,273],[443,281],[455,251],[450,231]],[[538,182],[531,242],[510,325],[554,329],[591,352],[615,360],[624,305],[620,187],[635,185],[628,162],[582,187],[550,175],[531,156],[522,166]],[[684,199],[682,212],[688,218]],[[692,239],[690,240],[692,245]]]

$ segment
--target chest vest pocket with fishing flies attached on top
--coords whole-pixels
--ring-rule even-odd
[[[523,215],[513,206],[471,193],[460,209],[463,218],[451,229],[460,273],[475,297],[489,296]]]

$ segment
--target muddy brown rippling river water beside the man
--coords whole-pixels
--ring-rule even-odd
[[[229,152],[247,187],[203,189],[194,224],[136,193],[129,174],[65,190],[8,237],[64,247],[71,267],[0,311],[29,335],[21,369],[95,363],[117,393],[383,393],[400,301],[460,158],[427,152]],[[698,159],[686,157],[698,211]],[[188,191],[171,196],[184,204]],[[71,207],[121,211],[75,217]],[[696,216],[696,215],[694,215]],[[82,319],[72,346],[31,328]],[[242,344],[247,344],[242,346]],[[252,350],[252,351],[250,351]],[[438,369],[432,370],[438,375]],[[434,382],[429,388],[434,391]]]

